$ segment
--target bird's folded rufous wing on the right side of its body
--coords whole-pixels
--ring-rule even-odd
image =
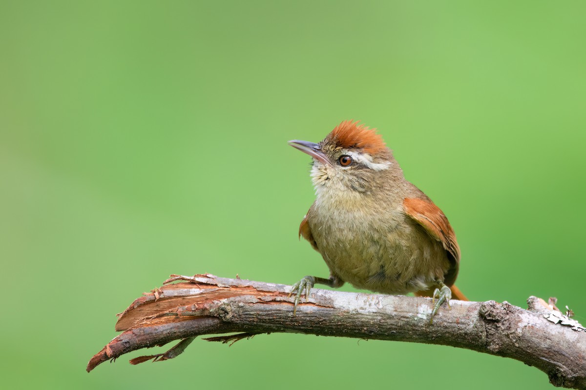
[[[433,239],[440,241],[444,246],[452,262],[452,269],[446,275],[445,284],[451,286],[458,275],[460,247],[448,219],[442,210],[428,199],[406,198],[403,201],[403,209],[410,218],[423,226]]]

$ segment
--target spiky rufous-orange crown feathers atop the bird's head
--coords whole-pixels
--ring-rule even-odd
[[[326,141],[327,140],[327,141]],[[326,137],[326,143],[333,142],[344,149],[362,149],[370,155],[386,149],[383,137],[374,129],[359,125],[358,121],[345,120]]]

